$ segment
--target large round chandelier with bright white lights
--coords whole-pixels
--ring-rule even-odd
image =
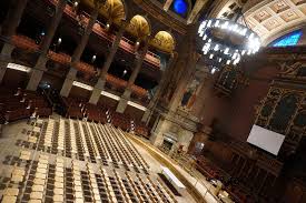
[[[207,55],[211,73],[225,64],[238,64],[243,55],[255,54],[260,48],[258,34],[237,20],[205,20],[199,26],[198,34],[203,39],[203,53]]]

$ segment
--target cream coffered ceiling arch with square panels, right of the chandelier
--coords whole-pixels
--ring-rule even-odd
[[[265,44],[306,23],[305,0],[265,1],[245,13],[248,26]]]

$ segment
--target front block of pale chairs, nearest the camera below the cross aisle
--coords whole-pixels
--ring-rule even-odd
[[[3,191],[2,203],[14,202],[103,202],[103,203],[176,203],[177,201],[158,179],[131,175],[128,172],[63,158],[34,155],[22,150],[20,160],[31,160],[28,170],[13,166],[10,182]],[[33,156],[37,156],[33,158]],[[70,166],[69,166],[70,165]],[[22,183],[22,184],[21,184]],[[18,186],[19,185],[19,186]]]

